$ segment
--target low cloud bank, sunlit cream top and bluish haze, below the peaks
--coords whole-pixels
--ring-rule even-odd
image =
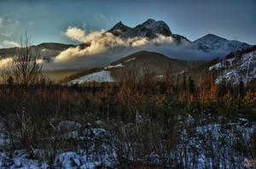
[[[62,35],[82,44],[67,48],[50,63],[49,70],[103,67],[109,63],[140,50],[154,51],[176,59],[212,59],[216,54],[198,50],[189,42],[177,44],[173,37],[158,35],[147,37],[121,38],[108,31],[86,31],[69,26]]]

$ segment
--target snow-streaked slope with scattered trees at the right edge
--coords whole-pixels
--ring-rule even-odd
[[[256,80],[256,46],[231,53],[225,59],[211,65],[209,70],[217,70],[216,83],[223,81],[239,84],[239,82],[255,82]]]

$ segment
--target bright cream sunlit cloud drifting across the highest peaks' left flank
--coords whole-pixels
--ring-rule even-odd
[[[106,31],[90,31],[86,35],[85,30],[81,30],[77,27],[68,26],[66,32],[61,34],[69,37],[72,40],[83,42],[86,47],[67,48],[67,50],[61,52],[61,54],[55,57],[55,62],[66,62],[67,60],[91,56],[95,54],[104,54],[108,50],[115,48],[139,48],[148,44],[161,44],[172,43],[172,37],[165,37],[158,35],[153,40],[148,40],[147,37],[132,37],[132,38],[120,38],[115,37],[112,33]]]

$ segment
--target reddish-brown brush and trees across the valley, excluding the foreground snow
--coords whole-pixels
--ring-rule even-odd
[[[101,120],[105,122],[104,128],[110,131],[108,142],[115,143],[117,147],[120,157],[118,167],[158,168],[174,165],[182,168],[192,161],[181,163],[176,159],[171,162],[170,157],[164,156],[163,153],[179,152],[180,149],[184,149],[178,150],[177,144],[185,141],[179,139],[184,129],[190,134],[194,133],[193,126],[181,123],[189,116],[195,118],[195,121],[207,116],[207,119],[210,119],[207,121],[208,124],[216,121],[219,116],[225,117],[226,122],[238,121],[241,117],[251,122],[256,119],[255,84],[234,86],[223,82],[217,85],[213,82],[213,74],[209,74],[205,81],[198,83],[185,74],[175,78],[165,76],[161,80],[148,78],[142,78],[139,82],[127,78],[119,83],[90,82],[83,86],[69,87],[37,83],[27,86],[26,94],[18,84],[1,85],[1,119],[11,140],[8,149],[55,149],[52,155],[44,155],[49,164],[53,164],[58,149],[88,149],[89,142],[61,138],[67,131],[53,132],[52,124],[76,121],[86,126],[88,122]],[[182,85],[175,83],[177,78],[182,79]],[[129,123],[134,124],[134,128],[121,125]],[[122,129],[124,127],[126,132]],[[22,134],[17,135],[17,132]],[[56,135],[60,137],[42,140]],[[114,142],[116,138],[119,142]],[[102,143],[106,138],[98,139],[96,142]],[[128,150],[122,143],[134,144],[131,144]],[[143,147],[140,148],[138,144]],[[238,152],[255,157],[255,142],[253,149],[245,148],[246,144],[241,142],[237,144],[240,144],[237,145],[237,149],[240,149]],[[98,147],[96,150],[100,149]],[[129,161],[125,156],[129,156],[131,149],[137,159],[146,158],[145,155],[150,152],[157,152],[158,155],[163,155],[160,157],[162,162],[159,166],[154,166],[154,162],[149,165]],[[147,161],[153,160],[148,157]]]

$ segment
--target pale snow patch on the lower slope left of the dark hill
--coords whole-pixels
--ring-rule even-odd
[[[84,82],[114,82],[114,79],[110,75],[110,71],[102,70],[90,75],[79,77],[78,79],[68,82],[68,84],[81,84]]]

